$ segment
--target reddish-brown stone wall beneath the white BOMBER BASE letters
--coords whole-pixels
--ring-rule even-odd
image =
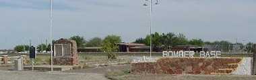
[[[236,70],[241,58],[162,58],[156,62],[132,63],[133,74],[228,75]]]

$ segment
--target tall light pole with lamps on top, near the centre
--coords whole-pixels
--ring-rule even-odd
[[[149,1],[149,2],[148,2]],[[145,3],[143,4],[144,6],[148,6],[148,4],[150,5],[150,57],[152,57],[152,21],[153,21],[153,18],[152,18],[152,11],[153,11],[153,0],[145,0]],[[159,5],[160,4],[160,0],[156,0],[155,4],[154,5]]]

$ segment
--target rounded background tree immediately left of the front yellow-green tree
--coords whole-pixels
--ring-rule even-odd
[[[100,47],[102,46],[102,39],[99,37],[94,37],[93,39],[90,39],[88,43],[86,43],[86,47]]]

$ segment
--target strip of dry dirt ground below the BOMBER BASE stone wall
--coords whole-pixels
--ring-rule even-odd
[[[251,75],[123,75],[117,80],[256,80]]]

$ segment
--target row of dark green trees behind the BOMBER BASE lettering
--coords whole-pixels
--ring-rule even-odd
[[[230,41],[203,41],[202,39],[188,39],[182,33],[152,33],[152,46],[162,47],[164,49],[170,49],[171,47],[176,47],[177,45],[196,45],[198,47],[205,47],[205,45],[212,45],[215,49],[228,52],[233,49],[234,45],[239,45],[238,48],[242,51],[247,51],[251,53],[253,51],[254,43],[231,43]],[[144,38],[138,38],[133,43],[144,43],[150,45],[150,35]]]

